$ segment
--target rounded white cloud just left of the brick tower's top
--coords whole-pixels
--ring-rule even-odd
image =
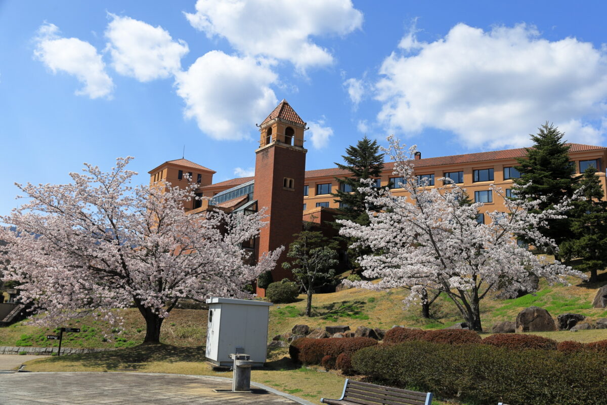
[[[185,115],[218,140],[247,138],[278,101],[270,88],[276,73],[254,58],[213,50],[200,56],[185,72],[175,73],[177,94],[186,103]]]

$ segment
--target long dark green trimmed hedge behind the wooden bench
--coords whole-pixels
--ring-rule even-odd
[[[410,341],[361,349],[357,373],[377,383],[472,404],[603,404],[607,353],[511,350],[489,344]]]

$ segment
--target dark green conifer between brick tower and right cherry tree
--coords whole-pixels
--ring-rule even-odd
[[[349,219],[356,223],[368,225],[369,218],[365,211],[365,195],[358,191],[361,179],[377,179],[384,168],[384,154],[379,152],[376,140],[371,141],[365,135],[356,146],[346,149],[344,164],[335,163],[338,168],[348,171],[349,177],[337,179],[339,189],[331,194],[336,202],[341,202],[337,219]]]

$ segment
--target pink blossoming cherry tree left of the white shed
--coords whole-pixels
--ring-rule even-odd
[[[131,159],[109,172],[85,164],[65,185],[17,185],[29,200],[0,217],[17,230],[0,233],[10,260],[3,279],[21,284],[22,301],[41,314],[33,322],[93,314],[115,324],[114,308],[134,306],[144,342],[159,342],[178,299],[248,298],[246,284],[276,264],[282,249],[252,265],[242,248],[265,226],[263,212],[188,214],[195,183],[132,186]]]

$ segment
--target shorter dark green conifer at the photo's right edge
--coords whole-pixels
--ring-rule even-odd
[[[584,172],[578,185],[583,187],[583,198],[569,211],[572,239],[560,245],[564,259],[579,259],[575,270],[590,271],[590,282],[596,282],[597,272],[607,267],[607,202],[596,172],[592,167]]]

